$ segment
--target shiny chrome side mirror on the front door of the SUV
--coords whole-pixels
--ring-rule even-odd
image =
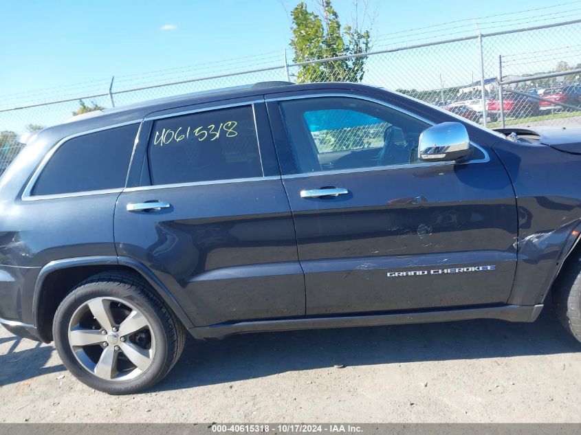
[[[460,122],[442,122],[421,132],[417,146],[421,161],[458,160],[470,153],[470,137]]]

